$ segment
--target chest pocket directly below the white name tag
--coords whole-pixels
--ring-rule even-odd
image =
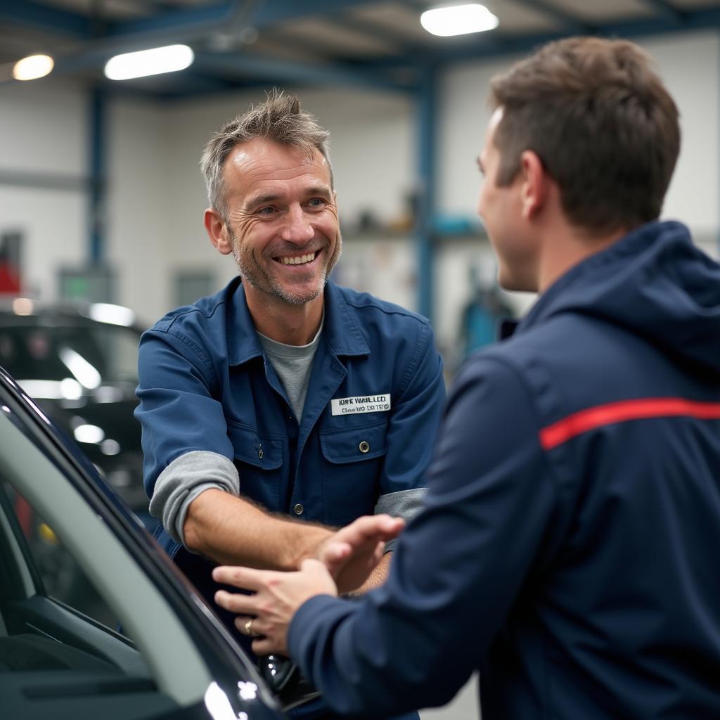
[[[387,453],[387,420],[320,433],[323,521],[344,525],[372,515]]]

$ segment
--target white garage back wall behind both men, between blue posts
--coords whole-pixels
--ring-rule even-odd
[[[717,254],[720,226],[720,42],[714,31],[641,40],[680,106],[683,149],[665,204],[666,217],[690,225]],[[474,217],[480,176],[475,166],[487,122],[487,86],[516,58],[454,66],[441,76],[437,146],[438,210]],[[52,76],[51,76],[52,77]],[[692,81],[689,81],[691,78]],[[415,119],[408,97],[356,89],[302,89],[303,105],[331,132],[333,167],[346,256],[345,282],[415,305],[415,254],[411,243],[390,240],[379,251],[356,238],[361,212],[397,220],[415,184]],[[260,90],[158,104],[117,99],[109,105],[107,255],[117,267],[117,300],[150,321],[174,304],[172,276],[204,269],[217,286],[234,274],[202,228],[206,205],[198,161],[210,133],[264,99]],[[0,171],[84,176],[88,108],[83,91],[57,79],[0,86]],[[24,269],[32,289],[56,294],[60,265],[87,256],[83,192],[0,185],[0,230],[25,230]],[[376,243],[377,244],[377,243]],[[474,251],[477,248],[477,253]],[[372,272],[372,263],[390,270]],[[438,248],[434,269],[438,337],[451,343],[459,307],[467,300],[469,264],[492,271],[492,254],[480,243]],[[386,268],[387,270],[387,268]],[[364,281],[363,281],[364,278]],[[518,309],[526,298],[513,298]]]

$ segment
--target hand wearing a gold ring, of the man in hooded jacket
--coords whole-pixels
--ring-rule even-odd
[[[287,655],[287,630],[297,608],[315,595],[338,594],[328,568],[313,559],[304,560],[297,572],[216,567],[212,579],[254,591],[253,595],[242,595],[218,590],[215,602],[239,613],[235,626],[241,633],[260,636],[253,641],[253,652],[258,655]]]

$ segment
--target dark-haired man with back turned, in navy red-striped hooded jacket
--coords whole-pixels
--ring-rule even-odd
[[[349,603],[313,560],[218,568],[256,594],[217,600],[353,716],[480,670],[482,720],[720,718],[720,266],[657,219],[678,110],[623,40],[491,91],[479,211],[539,299],[456,377],[390,577]]]

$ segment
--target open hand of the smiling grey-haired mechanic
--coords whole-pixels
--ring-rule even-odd
[[[335,578],[340,593],[359,588],[382,559],[385,543],[396,538],[405,521],[389,515],[358,518],[320,543],[315,557]]]

